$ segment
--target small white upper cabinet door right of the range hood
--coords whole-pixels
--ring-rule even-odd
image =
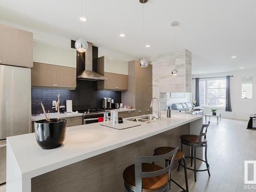
[[[104,57],[104,72],[128,75],[128,62],[110,57]]]

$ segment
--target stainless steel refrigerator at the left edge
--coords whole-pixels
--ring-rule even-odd
[[[0,65],[0,183],[6,182],[6,137],[30,127],[31,69]]]

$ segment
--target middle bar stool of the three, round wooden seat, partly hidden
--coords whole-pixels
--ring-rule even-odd
[[[168,147],[168,146],[162,146],[162,147],[158,147],[155,148],[154,150],[154,155],[163,155],[166,154],[168,152],[173,151],[175,148],[174,147]],[[172,159],[172,157],[168,157],[168,159],[165,159],[165,164],[169,164],[169,161]],[[174,158],[174,160],[178,160],[179,161],[179,167],[178,167],[178,171],[180,170],[180,161],[183,160],[183,164],[184,164],[184,173],[185,173],[185,183],[186,183],[186,189],[184,189],[180,184],[178,184],[176,181],[174,181],[172,178],[170,178],[170,181],[174,182],[177,186],[179,186],[183,191],[188,192],[188,182],[187,182],[187,168],[186,168],[186,159],[184,157],[184,153],[181,150],[178,150],[176,153],[176,156]]]

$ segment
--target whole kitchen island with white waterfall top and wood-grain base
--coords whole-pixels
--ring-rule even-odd
[[[180,146],[180,135],[198,135],[202,123],[202,116],[173,113],[172,118],[125,130],[101,123],[73,126],[54,150],[42,150],[33,133],[9,137],[7,192],[124,191],[122,172],[135,155]],[[188,155],[188,148],[184,152]],[[202,157],[202,151],[198,154]]]

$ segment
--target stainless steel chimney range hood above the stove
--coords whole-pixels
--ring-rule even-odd
[[[88,49],[86,51],[86,68],[84,71],[78,73],[77,78],[79,80],[89,80],[89,81],[98,81],[98,80],[108,80],[108,78],[96,73],[93,71],[93,50],[92,43],[88,42]]]

